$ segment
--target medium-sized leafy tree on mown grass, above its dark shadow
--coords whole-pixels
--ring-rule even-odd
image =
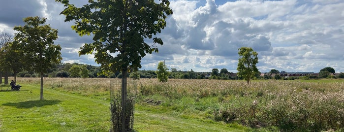
[[[13,29],[17,41],[24,53],[23,59],[26,69],[34,70],[40,74],[40,99],[43,99],[43,74],[53,63],[61,63],[61,46],[55,45],[58,31],[50,25],[44,25],[46,18],[27,17],[24,27],[16,26]]]

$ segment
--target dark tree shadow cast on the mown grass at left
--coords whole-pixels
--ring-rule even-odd
[[[32,108],[32,107],[42,107],[45,105],[54,105],[60,103],[61,100],[55,99],[55,100],[30,100],[30,101],[24,101],[24,102],[8,102],[3,103],[4,106],[12,106],[16,108]]]

